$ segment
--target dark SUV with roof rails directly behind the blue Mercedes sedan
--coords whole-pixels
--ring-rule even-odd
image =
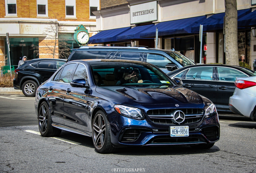
[[[84,46],[72,49],[67,62],[81,59],[126,59],[145,61],[165,73],[195,63],[175,50],[145,47]]]

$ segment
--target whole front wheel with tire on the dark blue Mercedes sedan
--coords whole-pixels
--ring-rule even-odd
[[[93,145],[98,153],[112,153],[115,148],[111,143],[110,125],[103,111],[98,111],[93,119]]]

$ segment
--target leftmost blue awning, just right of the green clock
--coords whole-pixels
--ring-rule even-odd
[[[88,44],[117,41],[116,37],[119,34],[122,34],[123,32],[126,32],[127,30],[130,30],[130,29],[131,27],[118,28],[118,29],[112,29],[112,30],[103,30],[95,34],[94,36],[91,36]]]

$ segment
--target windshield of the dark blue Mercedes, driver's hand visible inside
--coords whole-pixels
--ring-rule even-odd
[[[153,66],[120,64],[93,66],[95,83],[99,87],[120,85],[165,85],[173,83]]]

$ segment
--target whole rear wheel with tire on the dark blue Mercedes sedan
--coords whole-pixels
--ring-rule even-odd
[[[45,101],[40,105],[37,119],[41,136],[53,137],[60,135],[61,130],[52,127],[52,117],[50,115],[50,109]]]

